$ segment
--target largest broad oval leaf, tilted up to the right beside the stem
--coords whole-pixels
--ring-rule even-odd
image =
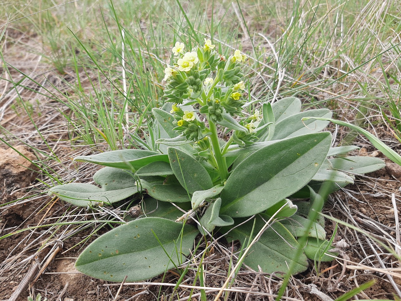
[[[221,191],[221,213],[245,217],[263,212],[304,187],[322,165],[331,135],[307,134],[255,151],[231,172]]]

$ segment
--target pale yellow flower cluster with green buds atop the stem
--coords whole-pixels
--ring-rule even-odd
[[[167,82],[164,96],[173,103],[170,113],[175,120],[174,130],[187,140],[197,142],[194,148],[197,156],[203,158],[213,155],[208,138],[213,132],[212,124],[227,127],[230,122],[236,123],[232,140],[245,146],[255,140],[260,120],[257,110],[247,117],[243,113],[246,85],[242,64],[246,61],[246,55],[235,50],[226,59],[215,49],[210,39],[205,39],[202,47],[190,50],[186,50],[184,43],[176,42],[172,48],[172,66],[164,70],[164,80]],[[184,110],[181,108],[183,103],[196,105],[193,108],[198,108],[198,111]],[[199,117],[197,114],[200,114]],[[202,118],[206,118],[209,126],[201,121]]]

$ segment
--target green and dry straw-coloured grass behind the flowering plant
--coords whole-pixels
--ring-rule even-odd
[[[0,138],[4,144],[25,144],[38,155],[42,195],[56,183],[88,178],[83,172],[90,174],[90,167],[78,171],[71,163],[69,158],[76,154],[130,147],[155,150],[158,133],[148,124],[152,108],[164,105],[162,79],[172,57],[170,49],[175,41],[190,49],[207,37],[226,56],[234,49],[249,55],[250,110],[257,100],[298,96],[304,106],[327,106],[337,118],[358,126],[384,125],[401,142],[399,4],[398,0],[3,2],[0,53],[8,68],[0,71],[4,89],[0,109],[25,120],[14,128],[2,125]],[[22,51],[41,55],[41,64],[51,70],[46,77],[53,74],[61,82],[46,81],[19,66]],[[18,91],[14,101],[5,106],[7,94],[14,91]],[[50,117],[43,106],[61,121],[44,127]],[[58,127],[60,131],[55,131]],[[22,128],[38,133],[34,143],[28,135],[21,137]],[[350,137],[352,142],[354,136]],[[101,223],[80,221],[71,228],[68,214],[59,214],[48,231],[63,233],[63,239],[92,228],[76,246],[106,224],[118,222],[102,211],[96,213]],[[196,270],[201,286],[202,263],[203,257]]]

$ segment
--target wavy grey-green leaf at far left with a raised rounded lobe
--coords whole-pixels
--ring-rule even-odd
[[[93,179],[101,188],[87,183],[70,183],[52,187],[50,191],[63,201],[81,207],[99,202],[115,203],[141,191],[132,173],[125,170],[105,167],[97,171]]]

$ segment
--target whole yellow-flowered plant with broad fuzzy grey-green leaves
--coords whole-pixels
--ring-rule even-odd
[[[141,207],[141,216],[87,246],[77,269],[108,281],[139,281],[185,262],[199,234],[220,232],[244,245],[251,232],[259,232],[245,264],[267,273],[287,273],[289,266],[293,273],[306,270],[308,258],[330,249],[324,221],[308,221],[320,187],[327,182],[333,192],[383,161],[346,157],[352,146],[331,147],[331,134],[321,132],[330,110],[301,112],[295,97],[248,110],[247,57],[239,50],[226,58],[209,39],[184,49],[175,43],[172,65],[164,71],[166,105],[152,110],[154,149],[77,157],[105,166],[93,177],[101,187],[71,183],[51,189],[79,206],[130,197]],[[308,241],[295,256],[304,233]]]

